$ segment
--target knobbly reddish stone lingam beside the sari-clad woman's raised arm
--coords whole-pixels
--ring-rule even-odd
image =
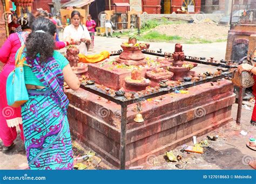
[[[76,46],[70,46],[66,51],[66,59],[68,59],[73,73],[82,76],[87,72],[87,64],[79,63],[79,49]]]

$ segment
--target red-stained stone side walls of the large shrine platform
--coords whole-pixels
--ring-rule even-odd
[[[104,76],[102,73],[100,74]],[[83,89],[66,91],[70,100],[69,123],[73,135],[112,165],[120,166],[120,106],[98,100]],[[126,168],[146,162],[149,155],[163,154],[231,121],[235,102],[233,84],[223,80],[188,89],[188,94],[164,95],[163,101],[146,101],[145,122],[133,121],[136,104],[127,108]]]

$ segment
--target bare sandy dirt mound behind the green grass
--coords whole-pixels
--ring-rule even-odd
[[[214,22],[197,22],[184,24],[159,25],[153,29],[168,36],[180,36],[187,40],[206,39],[208,41],[220,41],[227,39],[229,27],[219,26]]]

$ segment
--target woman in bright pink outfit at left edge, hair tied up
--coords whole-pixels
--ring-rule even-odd
[[[22,32],[10,34],[3,46],[0,48],[0,61],[5,65],[0,73],[0,138],[3,141],[3,151],[11,150],[14,147],[14,140],[17,138],[17,130],[21,129],[21,139],[24,141],[21,108],[8,106],[6,100],[6,80],[8,75],[15,68],[15,54],[25,44],[25,40],[31,32],[31,26],[35,17],[26,13],[24,17],[18,18],[22,26]]]

